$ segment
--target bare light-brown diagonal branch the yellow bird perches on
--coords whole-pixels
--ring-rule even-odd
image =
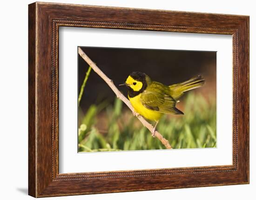
[[[92,69],[108,84],[108,86],[115,92],[115,95],[117,98],[121,99],[128,108],[133,112],[136,113],[132,104],[130,101],[119,91],[115,84],[113,83],[113,80],[109,79],[98,67],[95,65],[95,63],[83,52],[83,50],[78,47],[78,53],[83,58],[89,66],[92,67]],[[152,124],[148,123],[142,116],[139,116],[136,114],[137,118],[141,121],[141,123],[153,134],[154,133],[154,127]],[[158,131],[155,131],[155,136],[162,142],[162,144],[166,147],[171,149],[171,145],[169,144],[168,140],[166,140]]]

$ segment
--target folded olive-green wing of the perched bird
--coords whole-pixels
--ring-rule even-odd
[[[150,110],[165,114],[183,115],[183,112],[175,107],[175,99],[164,93],[161,89],[155,89],[153,91],[144,90],[141,94],[141,103]]]

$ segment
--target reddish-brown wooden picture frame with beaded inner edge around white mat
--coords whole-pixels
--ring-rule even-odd
[[[29,195],[47,197],[249,183],[249,16],[38,2],[30,4],[28,11]],[[59,174],[60,26],[232,35],[233,164]]]

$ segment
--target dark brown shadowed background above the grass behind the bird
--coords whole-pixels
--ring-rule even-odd
[[[205,86],[200,92],[216,96],[216,52],[81,47],[97,66],[127,96],[124,83],[132,71],[142,71],[152,80],[175,84],[195,75],[202,75]],[[88,64],[78,56],[78,92]],[[195,90],[196,91],[196,90]],[[80,107],[85,112],[92,103],[114,101],[115,94],[94,71],[91,72]]]

